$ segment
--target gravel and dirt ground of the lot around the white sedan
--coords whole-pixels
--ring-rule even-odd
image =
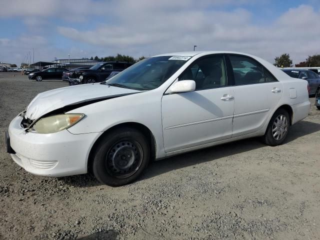
[[[38,92],[66,85],[0,72],[0,239],[320,239],[314,105],[281,146],[215,146],[154,162],[112,188],[89,174],[31,175],[4,152],[10,120]]]

